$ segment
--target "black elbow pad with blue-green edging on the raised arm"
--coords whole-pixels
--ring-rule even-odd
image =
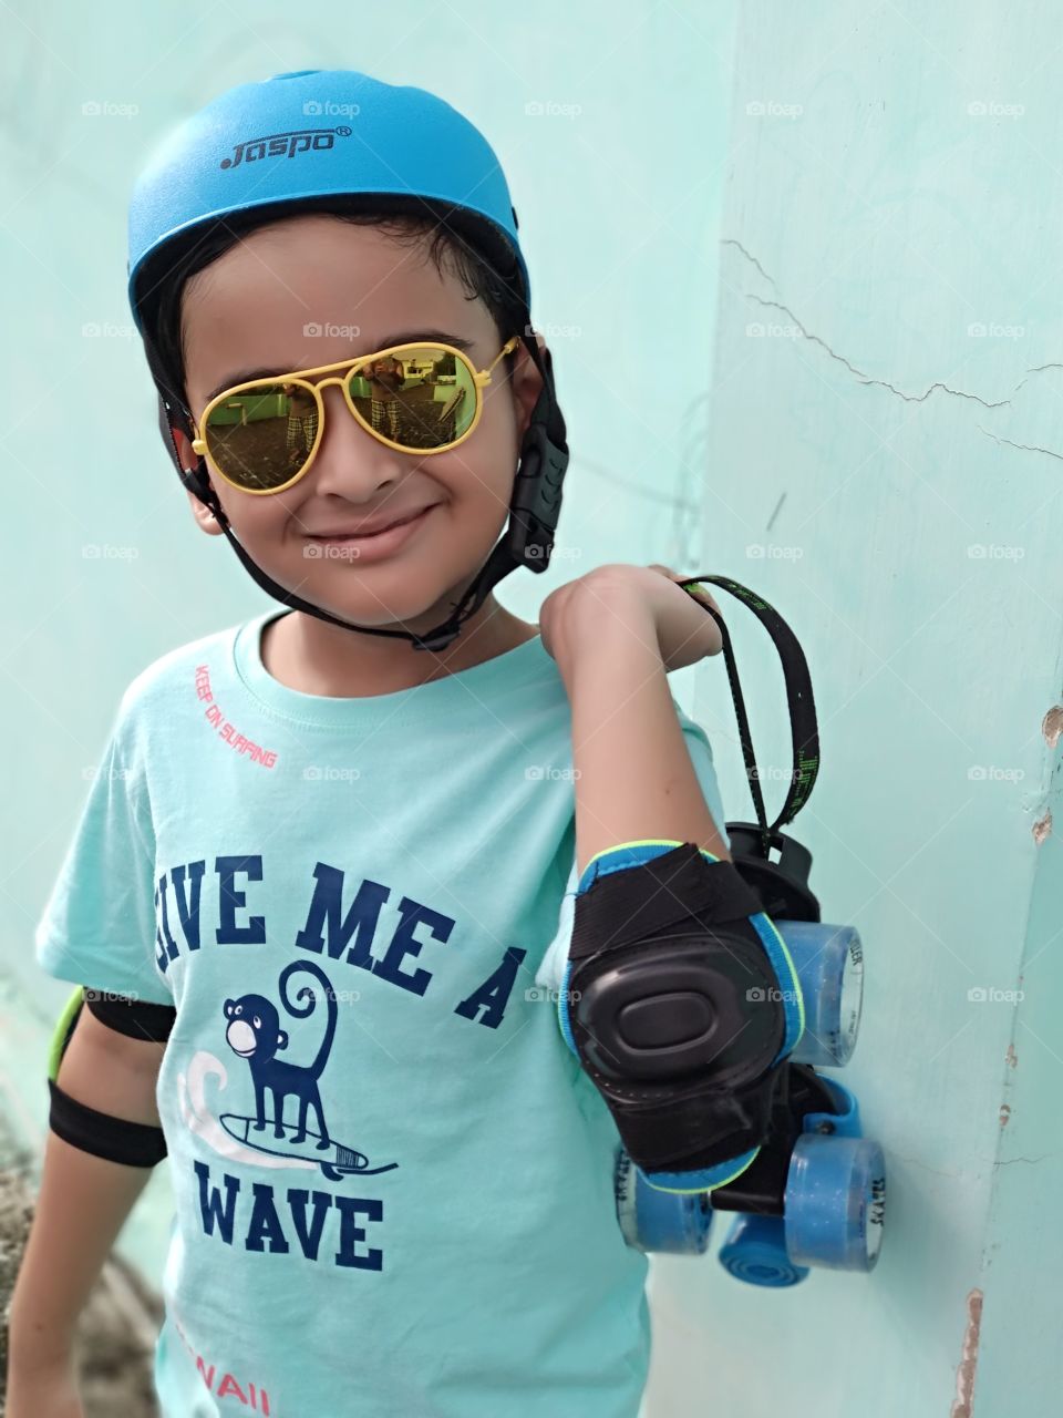
[[[731,862],[693,842],[600,854],[575,898],[558,1011],[625,1149],[663,1191],[707,1191],[767,1137],[804,1029],[797,970]]]

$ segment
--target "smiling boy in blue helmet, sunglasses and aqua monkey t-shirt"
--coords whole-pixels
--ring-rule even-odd
[[[505,177],[448,105],[350,71],[230,91],[130,235],[193,516],[288,607],[129,685],[37,932],[112,1024],[169,1011],[143,1038],[84,1010],[58,1078],[162,1126],[162,1412],[635,1418],[646,1259],[558,1029],[558,908],[617,842],[727,858],[666,679],[719,631],[658,567],[539,625],[490,594],[549,559],[564,423]],[[363,356],[456,370],[424,386],[456,415],[374,428]],[[118,1154],[48,1137],[11,1418],[77,1412],[74,1320],[147,1174]]]

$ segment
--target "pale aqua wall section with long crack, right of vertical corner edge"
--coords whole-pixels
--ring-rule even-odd
[[[1063,875],[1057,839],[1033,835],[1059,818],[1053,16],[741,7],[706,537],[812,665],[823,769],[797,835],[825,917],[866,942],[846,1073],[887,1149],[890,1214],[870,1279],[758,1293],[662,1266],[669,1415],[699,1411],[693,1387],[731,1418],[965,1418],[972,1292],[974,1412],[1059,1408]],[[785,767],[755,637],[754,735]],[[713,668],[699,688],[707,722],[726,685]],[[743,803],[734,753],[723,795]],[[1018,990],[1018,1008],[992,997]]]

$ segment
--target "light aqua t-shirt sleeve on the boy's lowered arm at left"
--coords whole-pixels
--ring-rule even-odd
[[[123,699],[125,706],[125,699]],[[154,964],[154,831],[143,763],[125,713],[95,770],[44,913],[37,963],[60,980],[173,1004]]]

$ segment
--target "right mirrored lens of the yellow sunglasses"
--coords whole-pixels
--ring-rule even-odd
[[[435,345],[407,345],[360,364],[349,389],[370,428],[403,448],[445,448],[476,414],[472,370]]]

